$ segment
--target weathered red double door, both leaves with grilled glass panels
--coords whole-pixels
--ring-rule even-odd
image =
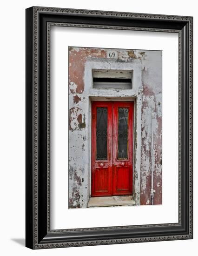
[[[133,108],[92,101],[92,196],[132,195]]]

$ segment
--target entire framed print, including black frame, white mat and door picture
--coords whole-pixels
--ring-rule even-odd
[[[192,239],[192,21],[26,9],[26,247]]]

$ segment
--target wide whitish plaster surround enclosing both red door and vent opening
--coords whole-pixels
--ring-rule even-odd
[[[125,90],[114,89],[96,89],[93,88],[92,70],[93,69],[115,69],[115,70],[132,70],[132,88]],[[108,63],[94,59],[87,60],[85,63],[84,84],[87,93],[87,131],[88,150],[87,160],[91,159],[91,140],[90,140],[90,113],[91,101],[135,101],[134,102],[134,128],[133,128],[133,195],[136,205],[140,205],[140,169],[141,169],[141,116],[142,116],[142,62],[134,59],[133,62],[120,62],[109,59]],[[124,94],[124,97],[123,97]],[[123,99],[124,98],[124,99]],[[91,162],[88,162],[87,169],[87,197],[84,203],[87,205],[91,196]]]

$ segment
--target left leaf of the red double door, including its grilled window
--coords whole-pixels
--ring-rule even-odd
[[[112,195],[112,103],[92,102],[92,196]]]

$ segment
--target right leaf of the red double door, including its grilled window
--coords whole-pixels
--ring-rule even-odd
[[[133,102],[113,102],[112,195],[132,195]]]

